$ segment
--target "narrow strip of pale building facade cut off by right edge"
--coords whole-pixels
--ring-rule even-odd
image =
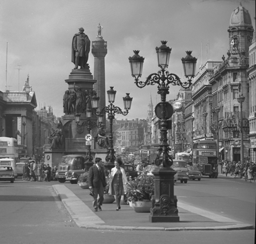
[[[248,82],[249,82],[249,104],[250,104],[250,114],[249,114],[249,126],[250,126],[250,160],[256,162],[256,42],[255,42],[255,30],[254,37],[252,39],[252,45],[249,47],[249,67],[248,72]]]

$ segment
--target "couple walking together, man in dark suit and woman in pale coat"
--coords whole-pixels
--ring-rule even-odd
[[[105,172],[101,158],[95,158],[95,164],[89,168],[88,185],[93,197],[92,205],[94,211],[101,211],[102,203],[104,201],[104,187],[107,186]],[[122,160],[117,158],[114,162],[115,167],[109,172],[109,194],[115,195],[117,203],[117,211],[121,209],[120,201],[122,195],[125,193],[127,185],[127,176],[125,175],[124,168],[121,167]]]

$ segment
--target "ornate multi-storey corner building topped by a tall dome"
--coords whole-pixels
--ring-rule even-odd
[[[240,103],[237,98],[245,97],[242,103],[242,130],[244,131],[244,159],[249,157],[249,83],[248,83],[248,59],[249,46],[253,37],[251,17],[248,11],[238,6],[231,14],[230,26],[228,28],[230,47],[228,57],[222,57],[223,62],[216,66],[210,79],[212,86],[212,108],[208,108],[208,123],[214,124],[217,120],[214,113],[217,107],[217,128],[219,130],[220,144],[225,150],[223,155],[226,160],[241,160],[241,128],[240,128]],[[255,91],[254,91],[255,93]]]

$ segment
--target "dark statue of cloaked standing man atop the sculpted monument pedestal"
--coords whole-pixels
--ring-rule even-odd
[[[74,69],[85,69],[89,57],[91,41],[84,33],[84,28],[79,28],[79,33],[76,33],[72,39],[72,63],[75,64]],[[89,67],[89,66],[88,66]]]

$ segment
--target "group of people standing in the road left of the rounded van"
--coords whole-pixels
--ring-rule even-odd
[[[44,179],[45,181],[51,181],[51,171],[49,164],[45,165],[34,160],[25,163],[23,178],[26,178],[27,181],[44,181]]]

